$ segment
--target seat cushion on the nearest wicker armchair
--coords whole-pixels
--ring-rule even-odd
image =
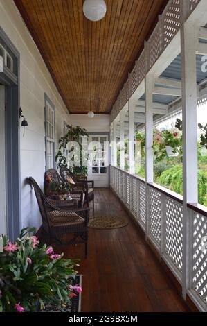
[[[54,227],[84,223],[84,218],[72,212],[48,212],[48,218],[50,219],[51,225]]]

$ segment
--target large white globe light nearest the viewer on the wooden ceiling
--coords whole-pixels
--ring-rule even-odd
[[[87,19],[97,22],[105,17],[107,5],[104,0],[85,0],[83,4],[83,12]]]

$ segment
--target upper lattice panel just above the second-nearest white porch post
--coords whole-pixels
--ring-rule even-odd
[[[156,25],[152,36],[148,42],[148,55],[149,55],[149,65],[150,68],[154,65],[154,62],[159,58],[161,53],[161,33],[160,33],[160,24]]]

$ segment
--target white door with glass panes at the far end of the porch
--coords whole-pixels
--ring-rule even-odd
[[[89,137],[89,180],[94,187],[109,187],[109,136],[91,135]]]

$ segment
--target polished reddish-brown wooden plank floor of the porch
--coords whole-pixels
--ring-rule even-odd
[[[95,201],[96,216],[127,216],[109,189],[97,189]],[[81,259],[83,312],[188,311],[130,218],[125,228],[90,229],[87,259],[84,245],[54,247]]]

